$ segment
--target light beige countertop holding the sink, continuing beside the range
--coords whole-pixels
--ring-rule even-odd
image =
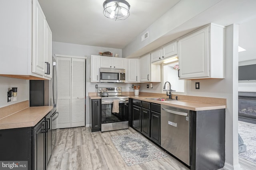
[[[226,105],[223,104],[210,104],[210,103],[203,103],[203,102],[195,102],[190,100],[171,100],[171,101],[156,101],[150,100],[147,98],[159,98],[159,96],[146,96],[146,95],[125,95],[132,99],[143,100],[146,102],[163,104],[167,106],[179,107],[183,109],[189,109],[193,111],[202,111],[202,110],[214,110],[214,109],[225,109]],[[90,99],[101,99],[100,96],[89,96]]]

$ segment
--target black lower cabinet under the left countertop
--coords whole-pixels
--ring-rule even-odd
[[[28,161],[28,170],[46,170],[52,154],[51,118],[52,112],[34,127],[0,130],[0,160]]]

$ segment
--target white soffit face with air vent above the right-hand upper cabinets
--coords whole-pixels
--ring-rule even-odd
[[[138,35],[134,41],[129,43],[123,49],[123,57],[139,57],[144,55],[149,51],[143,51],[142,48],[150,45],[156,39],[166,35],[176,27],[182,25],[186,21],[192,19],[197,16],[207,8],[210,8],[214,4],[220,2],[221,0],[181,0],[174,7],[172,7],[168,12],[166,12],[163,16],[161,16],[158,20],[152,23],[147,29],[145,29],[140,35]],[[191,6],[197,5],[196,8],[191,8]],[[182,12],[181,12],[182,11]],[[157,31],[156,31],[157,30]],[[144,35],[148,31],[148,38],[144,41],[141,41],[141,36]],[[169,39],[168,42],[174,39]],[[166,42],[166,43],[168,43]],[[160,47],[163,44],[159,44],[156,48]],[[155,49],[156,49],[155,48]],[[142,50],[142,51],[141,51]],[[154,49],[148,49],[154,50]],[[141,51],[141,55],[133,55],[133,53]],[[144,53],[143,53],[144,52]]]

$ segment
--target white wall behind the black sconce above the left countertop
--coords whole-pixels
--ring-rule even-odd
[[[7,91],[17,87],[17,101],[7,103]],[[12,100],[12,98],[11,98]],[[0,107],[29,100],[29,80],[0,76]]]

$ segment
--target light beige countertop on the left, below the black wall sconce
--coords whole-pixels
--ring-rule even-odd
[[[52,106],[27,107],[0,119],[0,129],[34,127],[52,110]]]

